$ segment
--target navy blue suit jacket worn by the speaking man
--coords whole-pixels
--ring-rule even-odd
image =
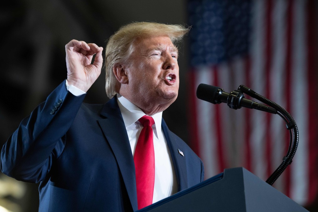
[[[1,171],[40,182],[41,212],[136,211],[134,160],[116,97],[105,105],[84,97],[61,83],[4,144]],[[178,191],[203,181],[202,161],[164,120],[162,129]]]

